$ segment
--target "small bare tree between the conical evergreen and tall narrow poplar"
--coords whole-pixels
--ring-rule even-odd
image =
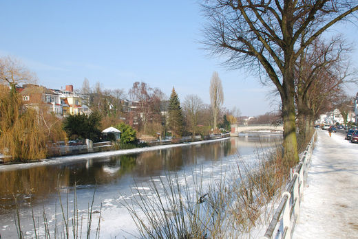
[[[202,100],[198,95],[187,95],[183,102],[183,109],[186,116],[190,130],[193,133],[193,137],[196,135],[196,128],[198,126],[198,117],[202,110]]]

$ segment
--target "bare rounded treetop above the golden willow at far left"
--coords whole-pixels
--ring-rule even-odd
[[[36,75],[25,68],[21,62],[10,56],[0,58],[0,83],[12,89],[20,84],[36,83]]]

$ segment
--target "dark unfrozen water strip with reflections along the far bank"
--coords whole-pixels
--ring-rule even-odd
[[[164,175],[166,172],[183,170],[193,165],[202,165],[224,160],[232,155],[245,155],[255,148],[267,148],[280,143],[281,137],[233,137],[209,144],[196,144],[140,152],[132,155],[118,155],[96,159],[84,159],[76,163],[57,166],[39,166],[22,170],[0,172],[0,214],[19,205],[41,204],[46,199],[56,198],[58,188],[73,185],[105,185],[126,187],[128,179],[140,180]],[[125,180],[122,180],[125,178]]]

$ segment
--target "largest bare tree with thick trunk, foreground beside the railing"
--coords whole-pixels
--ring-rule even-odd
[[[295,62],[328,27],[358,10],[356,0],[205,1],[207,49],[231,69],[268,78],[282,101],[284,162],[299,161],[295,126]],[[303,36],[303,37],[302,37]]]

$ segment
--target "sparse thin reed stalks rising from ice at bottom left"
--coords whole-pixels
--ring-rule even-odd
[[[57,214],[57,201],[55,202],[55,212],[54,212],[54,225],[48,220],[48,214],[45,212],[45,206],[43,205],[43,211],[41,216],[36,216],[34,214],[34,209],[32,207],[31,201],[31,210],[32,210],[32,224],[34,227],[33,234],[31,238],[90,238],[93,223],[92,215],[94,214],[93,205],[94,197],[96,190],[92,195],[92,201],[88,204],[87,214],[79,214],[80,209],[78,209],[78,199],[76,194],[76,185],[74,185],[74,200],[73,204],[69,202],[69,195],[66,194],[65,202],[61,197],[60,192],[58,192],[60,214]],[[16,200],[16,199],[15,199]],[[19,213],[19,207],[17,205],[17,211],[15,215],[15,226],[17,228],[18,238],[25,238],[23,229],[21,228],[21,216]],[[70,209],[72,208],[72,212]],[[101,215],[102,215],[102,204],[98,216],[98,223],[96,223],[96,232],[94,234],[95,238],[100,236],[100,227],[101,227]],[[85,227],[85,228],[84,228]]]

